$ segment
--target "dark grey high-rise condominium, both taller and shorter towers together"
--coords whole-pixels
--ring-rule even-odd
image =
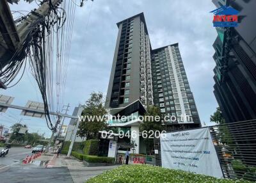
[[[163,115],[177,117],[172,125],[179,124],[186,114],[186,127],[200,126],[179,45],[152,49],[143,13],[118,22],[117,26],[106,108],[113,115],[136,111],[140,115],[145,112],[141,107],[155,105]]]

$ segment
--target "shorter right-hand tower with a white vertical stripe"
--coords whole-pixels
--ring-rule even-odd
[[[200,124],[179,45],[168,45],[151,53],[154,104],[160,107],[164,115],[177,116],[178,122],[186,114],[189,120]]]

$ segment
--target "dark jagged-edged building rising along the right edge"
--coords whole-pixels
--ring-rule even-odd
[[[256,118],[256,1],[212,0],[239,11],[236,28],[217,28],[214,95],[227,123]]]

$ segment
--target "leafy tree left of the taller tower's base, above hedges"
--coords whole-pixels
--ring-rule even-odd
[[[78,136],[86,139],[97,139],[99,131],[106,129],[107,125],[104,115],[107,111],[104,107],[104,97],[102,93],[91,93],[90,99],[86,101],[82,116],[84,120],[80,122],[79,129],[77,131]],[[88,119],[90,118],[90,120]]]

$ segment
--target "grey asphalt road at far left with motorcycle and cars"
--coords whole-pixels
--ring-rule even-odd
[[[0,147],[2,150],[2,147]],[[24,147],[12,147],[9,150],[9,153],[5,157],[0,157],[0,171],[8,168],[12,164],[17,164],[21,159],[24,159],[26,155],[31,155],[30,148]]]

